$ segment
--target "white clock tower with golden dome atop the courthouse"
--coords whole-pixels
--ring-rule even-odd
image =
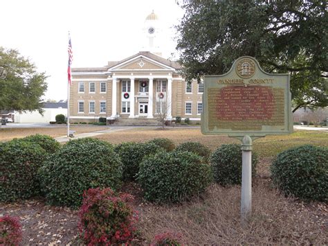
[[[161,25],[158,20],[158,16],[155,15],[154,10],[150,15],[145,19],[143,25],[143,51],[149,51],[155,55],[162,55],[160,49],[160,40],[161,40]]]

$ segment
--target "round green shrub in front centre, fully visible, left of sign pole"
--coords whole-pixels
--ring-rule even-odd
[[[138,182],[151,202],[180,202],[205,191],[212,181],[210,166],[192,152],[158,152],[143,159]]]

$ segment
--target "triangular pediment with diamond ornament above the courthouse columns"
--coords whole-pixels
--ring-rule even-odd
[[[122,62],[122,64],[117,64],[109,70],[172,70],[172,67],[167,67],[167,65],[161,62],[146,57],[138,57]]]

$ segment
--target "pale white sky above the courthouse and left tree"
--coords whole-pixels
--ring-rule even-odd
[[[183,10],[176,0],[1,1],[0,46],[17,49],[48,76],[43,99],[67,98],[67,47],[72,67],[102,67],[141,51],[145,18],[152,10],[162,24],[164,58],[176,53]]]

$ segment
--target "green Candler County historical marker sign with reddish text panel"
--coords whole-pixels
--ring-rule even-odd
[[[255,58],[237,59],[228,73],[205,76],[203,134],[264,137],[293,132],[289,74],[270,74]]]

